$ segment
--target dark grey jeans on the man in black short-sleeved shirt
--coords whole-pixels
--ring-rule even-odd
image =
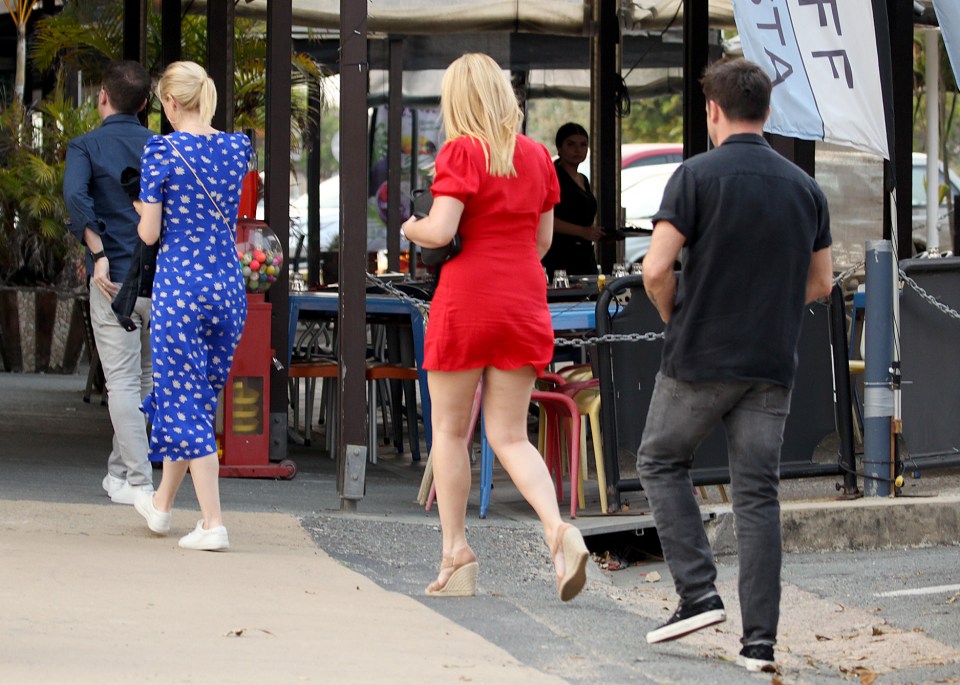
[[[716,593],[717,569],[694,497],[693,452],[719,422],[727,432],[748,644],[775,644],[780,619],[780,446],[790,390],[753,381],[687,383],[657,374],[637,450],[664,558],[682,603]]]

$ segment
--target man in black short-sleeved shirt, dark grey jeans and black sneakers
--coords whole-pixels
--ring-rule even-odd
[[[763,138],[772,84],[743,59],[704,72],[716,146],[670,178],[653,217],[643,285],[667,324],[637,471],[680,604],[647,642],[726,619],[690,468],[718,423],[727,433],[743,645],[737,662],[776,669],[780,618],[780,445],[808,302],[830,293],[830,217],[816,181]],[[674,261],[686,248],[679,286]]]

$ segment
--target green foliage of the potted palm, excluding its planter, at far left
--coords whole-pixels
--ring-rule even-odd
[[[0,109],[0,284],[73,288],[83,251],[67,231],[63,172],[67,143],[96,125],[92,106],[61,90],[35,108]]]

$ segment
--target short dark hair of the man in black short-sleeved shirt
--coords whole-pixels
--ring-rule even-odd
[[[770,109],[770,77],[742,58],[708,66],[700,79],[707,101],[713,100],[731,121],[765,121]]]

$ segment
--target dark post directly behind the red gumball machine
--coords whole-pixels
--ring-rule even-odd
[[[266,181],[264,214],[284,252],[290,236],[290,55],[293,51],[291,0],[267,4],[267,131],[264,141]],[[276,283],[267,291],[273,305],[270,342],[278,359],[286,360],[289,349],[287,324],[290,280],[280,269]],[[270,459],[287,456],[287,370],[270,372]]]

